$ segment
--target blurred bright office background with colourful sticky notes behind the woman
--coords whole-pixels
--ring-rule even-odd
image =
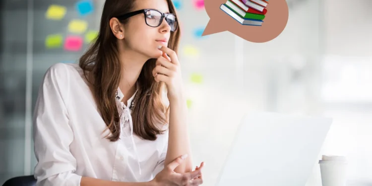
[[[174,0],[195,166],[206,162],[204,185],[214,186],[246,112],[322,115],[334,121],[320,154],[347,156],[349,185],[371,186],[372,1],[287,2],[285,30],[258,44],[230,32],[200,37],[209,20],[202,0]],[[42,77],[55,63],[77,62],[103,3],[1,0],[0,184],[33,174],[32,113]],[[314,161],[307,186],[320,185]]]

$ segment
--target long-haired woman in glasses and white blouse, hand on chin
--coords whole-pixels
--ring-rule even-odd
[[[204,163],[192,171],[187,157],[179,37],[171,0],[106,0],[79,64],[57,63],[44,76],[37,186],[202,184]]]

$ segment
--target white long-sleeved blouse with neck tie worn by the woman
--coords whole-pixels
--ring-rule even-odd
[[[82,176],[118,182],[147,182],[164,168],[168,129],[155,141],[133,134],[129,109],[118,88],[120,139],[111,134],[78,64],[57,63],[44,75],[33,118],[36,186],[79,186]],[[135,104],[135,103],[134,103]]]

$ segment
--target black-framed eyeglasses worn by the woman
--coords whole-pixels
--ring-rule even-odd
[[[125,13],[123,15],[116,16],[120,20],[127,19],[131,16],[143,13],[145,15],[145,22],[148,26],[158,27],[162,24],[163,19],[167,21],[168,25],[171,27],[171,31],[174,32],[178,28],[178,20],[173,13],[162,13],[157,9],[141,9]]]

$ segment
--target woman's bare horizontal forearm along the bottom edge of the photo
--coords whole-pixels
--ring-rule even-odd
[[[113,182],[90,177],[82,177],[80,181],[80,186],[154,186],[154,184],[153,182],[140,183]]]

